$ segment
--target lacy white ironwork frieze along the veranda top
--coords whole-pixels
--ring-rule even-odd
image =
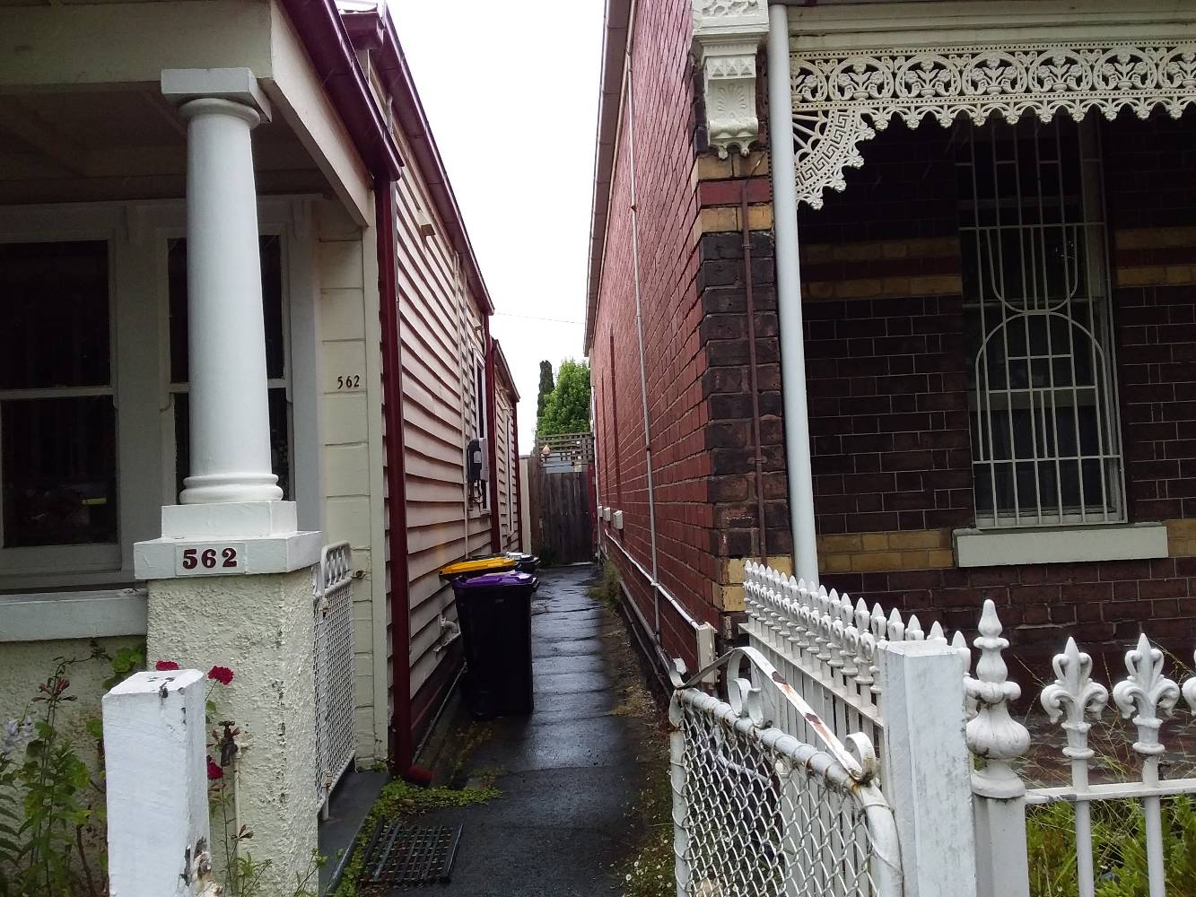
[[[1030,112],[1076,121],[1123,109],[1173,118],[1196,103],[1196,44],[1026,43],[792,54],[798,199],[822,208],[826,188],[860,167],[859,145],[893,118],[916,128],[966,116],[1015,122]],[[712,140],[713,142],[713,140]]]

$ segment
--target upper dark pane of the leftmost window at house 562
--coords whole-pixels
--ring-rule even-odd
[[[0,389],[111,382],[108,244],[0,244]]]

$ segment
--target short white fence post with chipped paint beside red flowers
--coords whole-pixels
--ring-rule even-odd
[[[210,872],[205,676],[140,672],[104,695],[111,897],[193,897]]]

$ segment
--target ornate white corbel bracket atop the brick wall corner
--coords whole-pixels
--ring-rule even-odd
[[[756,54],[768,33],[767,0],[692,0],[694,55],[702,67],[706,124],[719,158],[748,154],[759,136]]]

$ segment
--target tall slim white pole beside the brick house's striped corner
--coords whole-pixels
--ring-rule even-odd
[[[814,489],[810,466],[810,411],[806,350],[801,327],[801,269],[798,260],[798,185],[794,179],[793,99],[789,94],[789,12],[769,6],[768,132],[773,154],[773,218],[776,233],[776,311],[785,407],[785,462],[789,477],[789,523],[794,572],[818,581]]]

